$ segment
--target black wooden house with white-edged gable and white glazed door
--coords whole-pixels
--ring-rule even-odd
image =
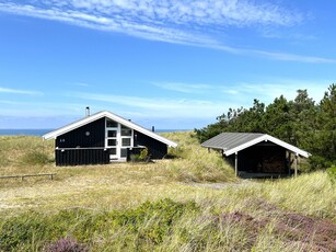
[[[152,159],[161,159],[171,141],[129,119],[107,111],[86,116],[43,136],[55,139],[56,165],[103,164],[127,161],[147,148]]]

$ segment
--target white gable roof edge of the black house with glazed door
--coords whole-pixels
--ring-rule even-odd
[[[57,138],[60,135],[69,133],[71,130],[76,129],[76,128],[79,128],[81,126],[90,124],[90,123],[92,123],[94,121],[97,121],[97,119],[100,119],[102,117],[107,117],[107,118],[109,118],[112,121],[115,121],[115,122],[117,122],[119,124],[123,124],[126,127],[129,127],[129,128],[132,128],[132,129],[135,129],[135,130],[137,130],[139,133],[142,133],[143,135],[147,135],[147,136],[158,140],[158,141],[161,141],[161,142],[167,145],[169,147],[177,147],[176,142],[174,142],[174,141],[165,138],[165,137],[162,137],[162,136],[160,136],[160,135],[158,135],[158,134],[155,134],[155,133],[153,133],[151,130],[148,130],[147,128],[143,128],[143,127],[141,127],[141,126],[130,122],[129,119],[125,119],[125,118],[123,118],[123,117],[120,117],[120,116],[118,116],[118,115],[116,115],[114,113],[111,113],[108,111],[97,112],[97,113],[95,113],[93,115],[90,115],[90,116],[86,116],[86,117],[84,117],[82,119],[79,119],[79,121],[77,121],[77,122],[74,122],[72,124],[66,125],[66,126],[63,126],[61,128],[58,128],[58,129],[56,129],[54,131],[47,133],[47,134],[45,134],[43,136],[43,138],[47,139],[47,140],[51,139],[51,138]]]

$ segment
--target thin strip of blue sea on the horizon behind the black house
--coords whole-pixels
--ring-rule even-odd
[[[46,129],[46,128],[39,128],[39,129],[11,129],[0,128],[0,136],[43,136],[46,133],[53,131],[54,129]],[[173,131],[188,131],[189,129],[155,129],[155,133],[173,133]]]

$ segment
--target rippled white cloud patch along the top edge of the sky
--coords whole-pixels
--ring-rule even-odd
[[[246,0],[35,0],[0,3],[2,11],[19,14],[44,15],[65,12],[92,22],[108,23],[111,20],[128,23],[216,25],[217,27],[251,25],[293,25],[302,22],[303,15],[276,4],[256,4]],[[57,14],[58,13],[58,14]],[[81,13],[81,14],[80,14]],[[50,16],[53,19],[53,15]],[[212,27],[213,28],[213,27]]]

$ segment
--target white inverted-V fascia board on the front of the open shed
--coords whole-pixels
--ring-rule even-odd
[[[265,135],[263,135],[263,136],[260,136],[258,138],[255,138],[255,139],[251,140],[251,141],[247,141],[247,142],[245,142],[245,144],[243,144],[241,146],[237,146],[237,147],[235,147],[233,149],[230,149],[230,150],[227,150],[227,151],[224,150],[224,154],[228,157],[230,154],[239,152],[239,151],[241,151],[243,149],[246,149],[246,148],[248,148],[251,146],[254,146],[256,144],[259,144],[262,141],[271,141],[271,142],[274,142],[274,144],[276,144],[278,146],[281,146],[285,149],[290,150],[290,151],[294,152],[296,154],[300,154],[300,156],[302,156],[304,158],[309,158],[311,156],[311,153],[309,153],[309,152],[306,152],[304,150],[301,150],[301,149],[299,149],[299,148],[297,148],[297,147],[294,147],[294,146],[292,146],[290,144],[281,141],[278,138],[271,137],[271,136],[269,136],[267,134],[265,134]]]

